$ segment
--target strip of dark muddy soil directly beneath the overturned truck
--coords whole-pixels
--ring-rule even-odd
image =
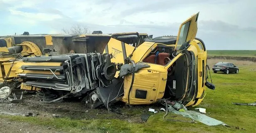
[[[39,117],[66,117],[71,119],[121,119],[132,123],[142,123],[140,116],[143,112],[147,112],[149,108],[159,111],[161,106],[153,105],[139,105],[132,106],[130,108],[123,102],[118,102],[114,106],[120,110],[118,113],[111,112],[103,106],[98,109],[86,108],[80,101],[71,101],[70,99],[64,99],[63,102],[44,104],[39,102],[40,98],[36,94],[25,94],[23,96],[23,102],[0,103],[0,114],[4,115],[21,115],[33,113]]]

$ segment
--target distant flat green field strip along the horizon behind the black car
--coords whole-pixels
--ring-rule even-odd
[[[256,50],[207,50],[208,56],[256,57]]]

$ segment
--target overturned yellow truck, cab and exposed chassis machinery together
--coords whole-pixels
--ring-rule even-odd
[[[116,101],[153,104],[165,98],[196,106],[204,98],[207,82],[207,51],[195,38],[197,18],[193,15],[180,26],[178,36],[140,38],[127,44],[111,37],[103,53],[69,53],[21,56],[1,48],[2,87],[21,83],[21,89],[36,90],[52,102],[80,97],[91,108]],[[126,34],[123,34],[125,36]]]

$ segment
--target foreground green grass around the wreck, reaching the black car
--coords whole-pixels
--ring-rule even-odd
[[[218,60],[209,60],[211,66]],[[234,61],[234,60],[233,60]],[[0,116],[11,121],[25,121],[31,124],[54,126],[54,129],[66,132],[98,132],[98,133],[255,133],[256,132],[256,106],[234,105],[231,102],[252,103],[256,101],[256,63],[238,61],[240,66],[238,74],[212,73],[215,90],[207,89],[206,97],[197,107],[206,108],[207,115],[225,122],[231,127],[206,126],[202,123],[171,122],[162,119],[165,112],[150,113],[146,123],[130,122],[127,119],[111,119],[113,113],[99,114],[98,118],[71,119],[71,118],[44,118],[22,116]],[[153,105],[152,105],[153,106]],[[132,110],[122,109],[126,114],[138,117],[142,111],[150,106]],[[155,109],[161,107],[154,106]],[[190,108],[194,110],[193,108]],[[148,112],[148,111],[146,111]],[[107,115],[108,119],[100,115]],[[174,116],[177,116],[173,118]],[[122,116],[121,116],[122,117]],[[184,119],[172,113],[166,118]],[[128,118],[129,119],[129,118]],[[236,129],[239,127],[239,129]],[[241,129],[243,128],[243,129]]]

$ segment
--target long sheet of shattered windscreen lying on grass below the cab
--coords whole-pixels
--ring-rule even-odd
[[[217,125],[226,125],[224,122],[216,120],[214,118],[211,118],[209,116],[206,116],[204,114],[197,113],[195,111],[177,111],[174,109],[171,105],[168,105],[168,110],[171,111],[174,114],[179,114],[184,117],[192,118],[193,120],[199,121],[201,123],[204,123],[208,126],[217,126]]]

